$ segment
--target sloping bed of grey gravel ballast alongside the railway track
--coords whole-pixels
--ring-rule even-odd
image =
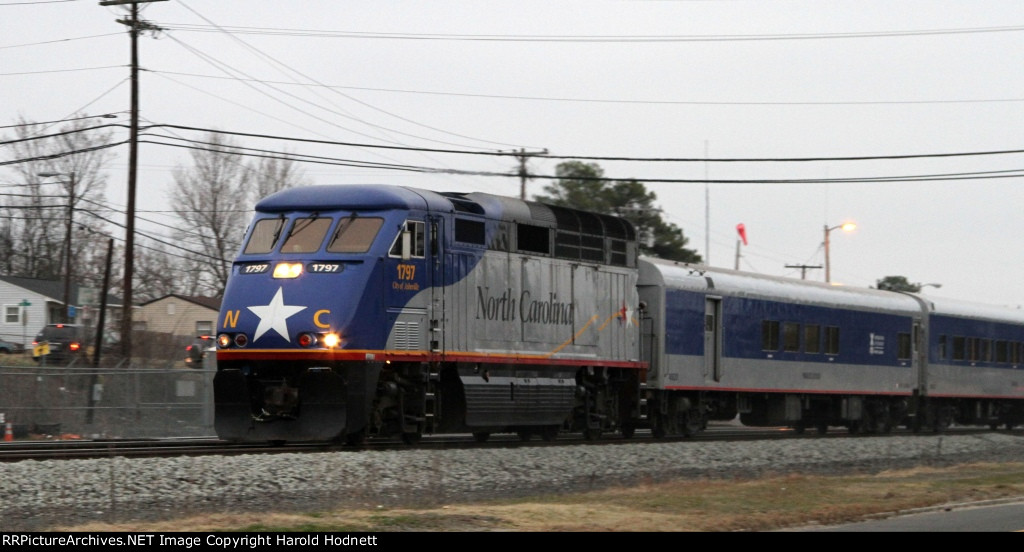
[[[3,530],[47,530],[204,512],[437,505],[680,477],[1021,461],[1024,436],[1004,432],[23,461],[0,464],[0,522]]]

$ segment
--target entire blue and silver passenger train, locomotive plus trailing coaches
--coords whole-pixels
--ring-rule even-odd
[[[489,194],[269,196],[219,316],[230,440],[1024,422],[1020,310],[644,258],[625,219]]]

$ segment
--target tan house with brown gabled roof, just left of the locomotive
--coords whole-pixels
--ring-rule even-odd
[[[213,334],[219,310],[219,297],[172,293],[139,305],[133,311],[132,326],[136,330],[173,334],[190,340]]]

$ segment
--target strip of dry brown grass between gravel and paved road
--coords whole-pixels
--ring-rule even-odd
[[[870,475],[680,479],[656,484],[424,509],[222,513],[90,523],[84,532],[765,532],[830,525],[951,503],[1024,498],[1024,463]]]

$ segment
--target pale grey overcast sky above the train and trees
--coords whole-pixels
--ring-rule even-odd
[[[936,297],[1024,305],[1024,154],[937,157],[1024,151],[1019,0],[143,5],[142,17],[164,29],[138,41],[143,124],[546,150],[559,158],[530,159],[539,176],[530,196],[562,157],[597,163],[613,178],[663,180],[646,185],[666,219],[715,266],[735,266],[742,223],[741,269],[801,278],[786,265],[823,264],[824,228],[854,221],[852,232],[830,232],[834,283],[903,275],[941,285],[925,289]],[[116,22],[125,13],[95,0],[0,0],[0,126],[77,113],[118,113],[127,125],[130,39]],[[158,132],[179,145],[205,137]],[[516,171],[513,158],[238,141],[335,160]],[[920,157],[838,159],[898,156]],[[106,187],[121,208],[127,157],[127,146],[117,150]],[[0,150],[0,161],[9,159]],[[666,159],[686,161],[654,161]],[[172,169],[186,165],[185,148],[140,147],[140,216],[170,221],[159,211],[172,201]],[[311,183],[519,195],[509,176],[328,164],[303,171]],[[0,184],[12,178],[0,167]],[[806,277],[823,281],[824,270]]]

